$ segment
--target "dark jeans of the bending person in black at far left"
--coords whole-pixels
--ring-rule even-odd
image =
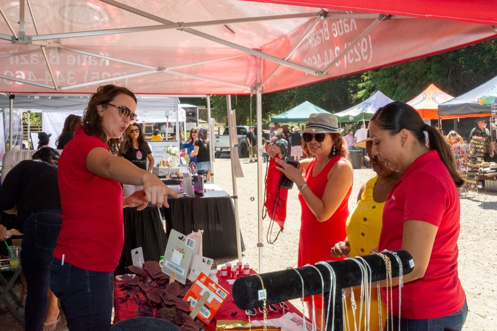
[[[47,315],[47,290],[50,285],[50,263],[61,231],[60,208],[39,209],[23,223],[21,267],[28,294],[26,297],[26,330],[41,331]]]

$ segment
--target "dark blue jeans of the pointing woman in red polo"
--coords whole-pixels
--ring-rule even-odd
[[[64,305],[70,331],[108,331],[113,272],[90,271],[53,258],[50,288]]]

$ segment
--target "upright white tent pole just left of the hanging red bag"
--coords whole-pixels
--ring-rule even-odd
[[[259,273],[263,272],[263,254],[264,248],[264,224],[262,223],[262,209],[264,206],[264,174],[262,172],[262,93],[257,89],[256,98],[256,125],[257,125],[257,224],[258,224],[258,243],[259,248]]]

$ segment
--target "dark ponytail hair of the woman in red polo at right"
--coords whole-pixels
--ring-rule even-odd
[[[426,131],[428,133],[430,150],[438,152],[456,187],[461,187],[464,184],[464,180],[456,170],[456,163],[450,146],[435,128],[423,122],[421,116],[419,116],[413,107],[402,102],[391,102],[378,109],[370,121],[374,122],[376,126],[390,135],[397,134],[402,129],[406,129],[422,145],[425,145],[424,131]]]

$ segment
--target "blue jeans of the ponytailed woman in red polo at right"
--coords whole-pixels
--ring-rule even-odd
[[[452,315],[427,320],[401,318],[401,331],[443,331],[444,328],[461,331],[467,316],[468,304],[465,301],[463,307]],[[390,319],[392,318],[394,330],[397,330],[399,327],[399,318],[397,316],[388,314],[386,323],[391,323]],[[387,329],[385,328],[384,330]]]

